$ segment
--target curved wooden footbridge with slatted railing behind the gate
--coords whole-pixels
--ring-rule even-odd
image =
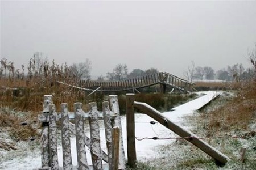
[[[100,91],[100,92],[118,92],[118,91],[133,91],[139,92],[141,88],[155,86],[160,84],[160,92],[165,93],[166,88],[170,87],[171,91],[188,92],[191,91],[192,86],[195,84],[188,80],[181,79],[175,75],[167,72],[159,72],[158,74],[145,75],[140,78],[127,79],[113,82],[97,82],[80,80],[76,85],[58,82],[68,86],[79,88],[86,91]],[[92,93],[93,93],[92,92]]]

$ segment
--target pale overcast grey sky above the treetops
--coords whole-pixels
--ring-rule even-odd
[[[27,65],[92,61],[92,76],[118,63],[183,75],[242,63],[256,42],[255,1],[1,1],[1,58]]]

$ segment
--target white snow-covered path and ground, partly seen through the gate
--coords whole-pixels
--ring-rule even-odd
[[[207,104],[210,100],[216,97],[219,92],[209,91],[209,92],[200,92],[204,93],[205,95],[189,101],[179,107],[173,108],[170,112],[164,112],[163,115],[170,118],[172,122],[183,126],[183,116],[187,116],[192,114],[193,111],[203,107]],[[122,133],[123,133],[123,143],[125,148],[125,155],[126,154],[126,117],[121,117],[122,121]],[[154,125],[150,124],[150,121],[154,121],[152,118],[148,117],[146,114],[137,113],[135,114],[135,136],[137,138],[144,138],[144,137],[159,137],[159,138],[168,138],[168,137],[175,137],[175,134],[172,133],[169,129],[164,127],[163,125],[156,123]],[[184,126],[183,126],[184,127]],[[189,125],[186,125],[185,128],[188,128]],[[86,135],[89,135],[89,130]],[[101,148],[102,150],[106,151],[106,143],[105,143],[105,132],[104,127],[100,128],[100,135],[101,135]],[[31,141],[32,142],[32,141]],[[169,143],[174,142],[173,140],[150,140],[144,139],[142,141],[136,140],[136,151],[137,151],[137,160],[144,162],[146,160],[158,158],[158,153],[156,152],[156,147],[159,145],[167,145]],[[71,138],[71,152],[72,152],[72,162],[73,165],[77,165],[76,160],[76,145],[75,145],[75,137]],[[5,160],[2,162],[0,160],[0,169],[38,169],[41,166],[41,158],[40,158],[40,148],[35,148],[34,150],[28,149],[30,144],[23,143],[24,145],[19,145],[18,147],[21,150],[24,150],[24,154],[18,154],[19,156],[15,156],[15,152],[18,151],[1,151],[0,154],[4,154]],[[61,145],[58,148],[58,156],[59,156],[59,165],[60,167],[63,166],[62,163],[62,153],[61,153]],[[92,164],[90,159],[90,152],[87,148],[86,155],[88,157],[88,163]]]

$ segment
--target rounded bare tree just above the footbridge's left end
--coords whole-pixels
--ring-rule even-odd
[[[90,71],[92,69],[91,65],[92,62],[88,58],[86,58],[85,62],[73,63],[73,65],[70,66],[69,70],[75,78],[89,80]]]

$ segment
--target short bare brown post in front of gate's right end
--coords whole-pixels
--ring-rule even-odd
[[[120,129],[113,127],[112,129],[112,170],[118,170],[119,163],[119,140],[120,140]]]

